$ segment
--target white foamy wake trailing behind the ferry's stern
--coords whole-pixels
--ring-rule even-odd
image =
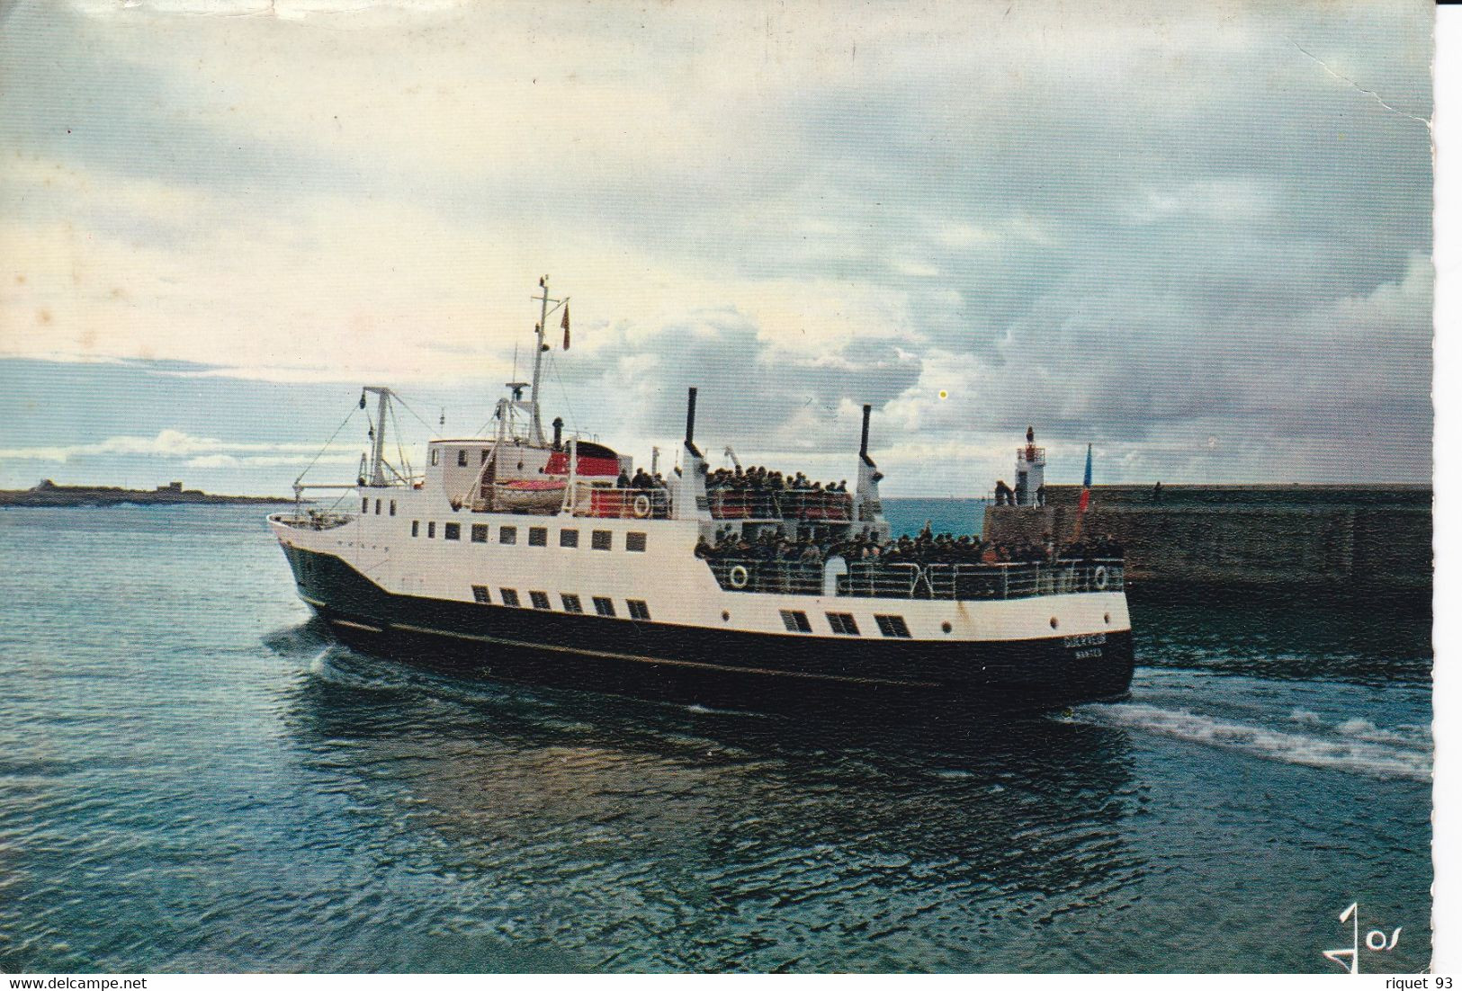
[[[1143,703],[1085,709],[1080,715],[1105,725],[1130,726],[1164,737],[1241,750],[1289,764],[1345,770],[1373,778],[1431,779],[1431,756],[1414,747],[1399,745],[1408,743],[1424,745],[1424,741],[1377,729],[1366,719],[1348,719],[1339,724],[1336,731],[1348,738],[1336,738],[1250,726],[1187,709],[1159,709]],[[1314,716],[1313,724],[1307,716],[1314,713],[1295,710],[1291,718],[1307,725],[1323,725],[1319,716]],[[1363,735],[1367,732],[1370,735]]]

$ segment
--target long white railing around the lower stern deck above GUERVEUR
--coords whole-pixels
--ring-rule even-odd
[[[1019,599],[1076,592],[1121,592],[1120,558],[918,564],[914,561],[762,561],[709,558],[716,583],[730,592],[835,595],[877,599]]]

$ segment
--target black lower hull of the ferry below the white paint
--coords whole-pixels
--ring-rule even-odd
[[[333,554],[285,547],[300,595],[344,643],[478,677],[778,712],[1026,713],[1124,697],[1129,630],[927,642],[773,636],[395,595]]]

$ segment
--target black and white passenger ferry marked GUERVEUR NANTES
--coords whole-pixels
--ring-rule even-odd
[[[395,393],[368,386],[373,450],[355,484],[297,481],[295,510],[269,517],[300,598],[339,640],[491,678],[706,706],[1028,712],[1127,693],[1120,560],[708,554],[712,541],[756,548],[769,534],[822,547],[887,539],[871,408],[851,493],[708,487],[696,389],[680,465],[662,484],[626,485],[632,456],[564,437],[561,419],[544,433],[544,335],[566,300],[550,298],[547,278],[539,286],[532,381],[507,384],[491,436],[431,440],[412,472],[386,457]],[[306,509],[310,488],[345,490],[344,507]]]

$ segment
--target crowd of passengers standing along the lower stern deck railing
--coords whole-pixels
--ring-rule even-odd
[[[870,564],[1015,564],[1053,561],[1121,560],[1123,547],[1111,534],[1088,539],[1077,538],[1070,544],[1057,545],[1050,534],[1041,542],[1023,541],[997,544],[978,536],[955,536],[933,534],[925,523],[918,536],[899,536],[879,541],[873,531],[864,528],[857,536],[835,541],[813,541],[810,536],[789,538],[775,531],[763,531],[747,539],[735,528],[716,531],[715,542],[700,538],[696,557],[718,561],[759,561],[784,564],[822,566],[832,557],[849,563]]]

